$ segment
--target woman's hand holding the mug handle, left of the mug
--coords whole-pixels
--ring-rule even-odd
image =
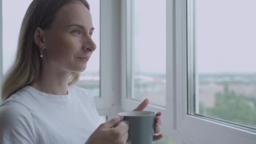
[[[123,116],[102,123],[91,134],[85,144],[126,144],[128,125],[120,123],[114,128],[114,125],[121,120],[123,120]]]

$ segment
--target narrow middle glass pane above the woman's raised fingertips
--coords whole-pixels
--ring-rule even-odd
[[[145,4],[147,6],[145,6]],[[133,0],[133,99],[165,106],[166,0]]]

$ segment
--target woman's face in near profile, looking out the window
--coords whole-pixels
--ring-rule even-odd
[[[96,45],[91,39],[90,11],[82,3],[64,5],[51,29],[45,31],[44,58],[61,71],[82,72]]]

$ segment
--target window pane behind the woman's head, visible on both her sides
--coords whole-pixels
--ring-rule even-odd
[[[32,0],[18,0],[15,5],[10,0],[3,0],[3,74],[11,65],[18,45],[21,22]],[[81,73],[80,80],[76,85],[88,89],[92,96],[100,96],[100,76],[99,76],[99,33],[100,33],[100,0],[88,0],[91,6],[93,18],[93,40],[97,45],[88,62],[85,72]],[[15,9],[15,11],[13,11]]]

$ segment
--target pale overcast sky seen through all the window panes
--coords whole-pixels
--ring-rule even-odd
[[[3,0],[3,71],[16,52],[19,29],[32,0]],[[99,0],[91,5],[93,53],[85,72],[99,71]],[[256,72],[255,0],[195,0],[197,68],[200,73]],[[147,3],[147,6],[145,6]],[[133,49],[137,72],[165,73],[165,0],[136,0]],[[11,8],[10,8],[11,7]],[[13,11],[15,10],[15,11]]]

